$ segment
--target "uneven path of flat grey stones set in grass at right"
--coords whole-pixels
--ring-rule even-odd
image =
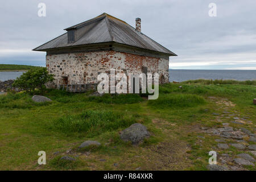
[[[218,105],[221,114],[212,113],[212,115],[214,121],[221,122],[222,126],[201,127],[201,132],[213,136],[217,142],[217,154],[219,152],[223,154],[217,155],[217,165],[208,165],[207,168],[211,171],[240,171],[246,170],[245,166],[255,166],[256,127],[250,121],[250,117],[242,117],[238,111],[232,109],[236,105],[225,98],[208,97],[208,99]],[[240,154],[234,155],[232,150]]]

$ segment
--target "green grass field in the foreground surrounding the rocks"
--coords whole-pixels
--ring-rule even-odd
[[[244,152],[255,158],[246,149],[218,148],[215,139],[220,137],[201,129],[229,123],[234,130],[243,127],[255,133],[255,82],[186,81],[160,86],[159,92],[158,100],[147,100],[135,94],[90,97],[48,90],[53,102],[45,104],[34,103],[26,93],[0,96],[0,169],[207,170],[212,150],[232,159]],[[232,122],[233,117],[243,118],[243,123]],[[119,139],[119,132],[136,122],[143,123],[151,137],[133,146]],[[85,140],[102,145],[79,150]],[[224,140],[255,144],[249,137]],[[46,165],[37,163],[39,151],[46,151]],[[65,155],[76,160],[60,160]],[[221,157],[217,162],[237,166],[222,163]]]

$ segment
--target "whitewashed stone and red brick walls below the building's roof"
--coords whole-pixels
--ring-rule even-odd
[[[159,73],[163,82],[169,81],[169,60],[156,57],[139,56],[125,52],[100,51],[64,53],[46,56],[46,67],[55,75],[51,86],[65,84],[94,84],[100,73],[110,73],[114,68],[117,73],[142,73],[147,67],[150,73]],[[67,78],[65,78],[67,77]],[[65,80],[67,79],[67,80]]]

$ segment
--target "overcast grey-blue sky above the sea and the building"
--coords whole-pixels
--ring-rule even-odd
[[[39,3],[46,17],[38,16]],[[256,69],[255,0],[2,1],[0,64],[45,66],[46,53],[31,49],[104,12],[133,27],[141,18],[143,34],[178,55],[171,69]]]

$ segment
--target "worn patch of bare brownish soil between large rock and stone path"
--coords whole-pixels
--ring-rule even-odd
[[[173,131],[181,130],[176,123],[164,119],[152,119],[155,127],[161,129],[167,136],[164,142],[147,147],[145,158],[149,162],[144,170],[182,170],[191,166],[188,159],[191,148],[184,141],[175,138]],[[182,129],[183,130],[183,129]]]

